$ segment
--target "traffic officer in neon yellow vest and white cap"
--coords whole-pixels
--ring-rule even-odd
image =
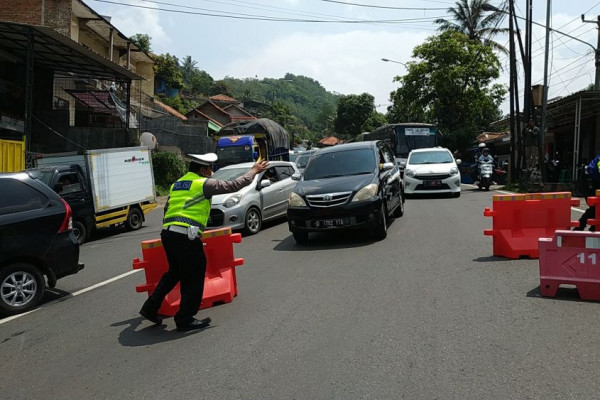
[[[190,154],[189,157],[192,159],[189,172],[171,186],[165,205],[160,238],[169,270],[140,310],[144,318],[161,324],[158,309],[179,282],[181,301],[174,320],[180,332],[205,328],[211,321],[210,318],[198,320],[194,316],[200,308],[204,290],[206,256],[201,237],[210,215],[212,196],[237,192],[252,183],[256,174],[268,168],[266,161],[256,162],[245,175],[221,181],[211,179],[212,164],[217,161],[215,153]]]

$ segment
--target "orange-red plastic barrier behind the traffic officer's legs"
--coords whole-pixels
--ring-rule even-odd
[[[241,243],[241,241],[242,236],[239,233],[232,234],[231,228],[206,231],[202,234],[206,254],[206,276],[201,309],[219,303],[230,303],[237,296],[235,267],[244,264],[244,259],[233,257],[233,243]],[[167,256],[160,239],[143,241],[142,256],[143,260],[138,258],[133,260],[133,269],[144,269],[146,283],[137,285],[135,291],[148,292],[150,296],[168,269]],[[165,297],[158,313],[166,316],[175,315],[180,300],[181,294],[177,284]]]

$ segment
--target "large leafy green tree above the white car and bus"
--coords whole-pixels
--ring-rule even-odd
[[[408,73],[394,78],[390,122],[429,122],[448,136],[448,147],[469,145],[480,130],[501,118],[506,88],[498,78],[500,62],[489,46],[455,31],[429,37],[415,47]]]

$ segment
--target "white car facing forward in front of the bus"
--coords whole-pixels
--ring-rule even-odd
[[[460,159],[444,147],[410,152],[404,168],[404,192],[411,194],[451,193],[460,196]]]

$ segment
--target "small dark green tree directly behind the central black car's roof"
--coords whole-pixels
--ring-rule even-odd
[[[365,130],[365,123],[375,113],[375,97],[369,93],[340,97],[337,117],[333,124],[335,132],[348,140]]]

